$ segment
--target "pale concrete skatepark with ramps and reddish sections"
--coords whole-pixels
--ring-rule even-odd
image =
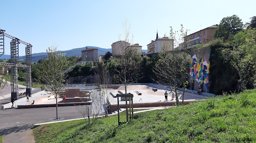
[[[123,85],[120,84],[113,84],[113,85],[102,85],[104,87],[104,93],[106,93],[106,98],[108,101],[100,101],[102,103],[97,103],[97,105],[104,106],[105,103],[110,105],[110,112],[117,110],[117,94],[124,94],[125,88]],[[33,90],[33,89],[32,89]],[[180,89],[181,90],[181,89]],[[82,102],[90,102],[91,96],[100,96],[98,87],[86,87],[85,85],[73,85],[72,87],[66,88],[63,90],[63,95],[59,96],[57,101],[58,104],[61,106],[69,106],[74,104],[80,104]],[[168,100],[165,101],[164,93],[167,91],[168,93]],[[198,95],[194,93],[190,93],[191,90],[186,90],[184,94],[184,102],[193,102],[196,100],[206,99],[207,96]],[[133,103],[134,107],[156,107],[156,106],[172,106],[175,105],[176,100],[172,99],[172,95],[170,93],[170,87],[160,85],[160,84],[153,84],[153,83],[144,83],[144,84],[133,84],[127,86],[127,93],[131,93],[134,95]],[[182,91],[178,91],[177,95],[179,101],[182,101]],[[208,95],[212,96],[212,95]],[[106,100],[106,99],[105,99]],[[34,103],[33,103],[34,102]],[[33,103],[33,105],[32,105]],[[70,103],[70,104],[67,104]],[[119,99],[119,104],[124,105],[125,100]],[[187,104],[187,103],[186,103]],[[2,105],[2,109],[11,108],[12,103],[7,103]],[[38,106],[44,105],[44,106]],[[55,106],[56,100],[54,98],[53,93],[46,92],[46,91],[39,91],[35,94],[32,94],[29,97],[29,101],[27,101],[26,97],[19,98],[15,101],[16,108],[35,108],[35,107],[50,107]],[[103,108],[103,107],[102,107]],[[102,113],[104,110],[102,109]]]

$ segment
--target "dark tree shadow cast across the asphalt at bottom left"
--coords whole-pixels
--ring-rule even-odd
[[[25,125],[20,125],[20,126],[13,126],[13,127],[8,127],[8,128],[3,128],[0,129],[0,134],[1,135],[8,135],[10,133],[17,133],[20,131],[25,131],[32,129],[34,127],[33,124],[25,124]]]

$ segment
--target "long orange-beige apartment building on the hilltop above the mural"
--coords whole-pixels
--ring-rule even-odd
[[[198,44],[205,44],[212,40],[215,40],[216,38],[214,38],[214,32],[217,26],[218,24],[211,25],[207,28],[204,28],[203,30],[187,35],[185,38],[187,49],[196,47]],[[178,49],[184,49],[184,45],[184,43],[179,44]]]

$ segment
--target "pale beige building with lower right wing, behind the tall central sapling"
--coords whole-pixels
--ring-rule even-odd
[[[133,48],[137,49],[137,51],[141,54],[142,46],[139,44],[131,45],[129,42],[125,41],[117,41],[111,45],[112,47],[112,55],[122,55],[125,49]]]

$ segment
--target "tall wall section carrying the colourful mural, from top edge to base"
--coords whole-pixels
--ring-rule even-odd
[[[190,58],[189,85],[190,90],[209,92],[209,53],[210,48],[193,49]]]

